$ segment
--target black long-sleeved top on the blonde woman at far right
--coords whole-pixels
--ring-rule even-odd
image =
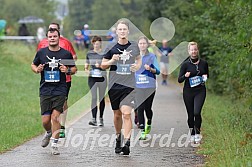
[[[189,83],[189,78],[185,77],[186,72],[191,72],[189,78],[195,77],[195,76],[202,76],[205,74],[207,74],[207,77],[209,78],[208,64],[205,60],[202,60],[202,59],[200,59],[200,62],[198,65],[195,65],[192,62],[190,62],[190,59],[186,59],[181,65],[178,82],[182,83],[185,81],[184,88],[191,88],[190,83]],[[196,86],[195,88],[204,87],[204,86],[205,84],[200,84]]]

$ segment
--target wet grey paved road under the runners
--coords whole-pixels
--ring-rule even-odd
[[[114,153],[113,115],[110,105],[107,105],[105,126],[90,127],[91,113],[87,113],[67,129],[67,138],[60,147],[59,156],[52,156],[50,147],[42,148],[42,136],[38,136],[0,155],[0,166],[201,166],[203,159],[195,154],[197,148],[185,141],[187,116],[180,88],[175,84],[159,85],[153,111],[153,126],[147,141],[137,140],[139,130],[134,126],[129,156]]]

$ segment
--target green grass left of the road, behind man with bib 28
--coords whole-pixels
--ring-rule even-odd
[[[0,43],[0,153],[43,133],[39,106],[40,75],[34,74],[30,64],[35,46],[21,42]],[[84,58],[85,53],[78,53]],[[84,66],[83,66],[84,67]],[[78,68],[83,68],[78,67]],[[69,107],[88,93],[86,77],[73,76]],[[88,100],[88,99],[87,99]],[[89,101],[82,104],[71,119],[86,111]]]

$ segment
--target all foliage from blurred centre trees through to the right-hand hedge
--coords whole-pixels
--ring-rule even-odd
[[[251,1],[239,0],[70,0],[66,22],[72,32],[85,23],[91,29],[108,29],[126,17],[149,36],[150,23],[167,17],[176,28],[172,47],[182,41],[199,43],[200,55],[210,65],[209,90],[251,104],[251,6]]]

